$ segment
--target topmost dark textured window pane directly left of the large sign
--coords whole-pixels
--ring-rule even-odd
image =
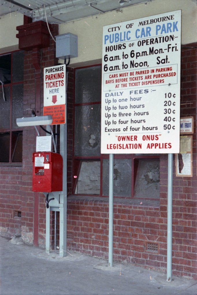
[[[101,101],[101,66],[75,71],[75,104]]]

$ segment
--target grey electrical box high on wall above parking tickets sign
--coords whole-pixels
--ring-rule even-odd
[[[56,38],[56,57],[73,58],[78,56],[77,35],[66,33],[55,36]]]

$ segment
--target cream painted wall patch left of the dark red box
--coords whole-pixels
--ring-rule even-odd
[[[10,13],[0,18],[0,53],[18,49],[17,26],[23,24],[23,14]]]

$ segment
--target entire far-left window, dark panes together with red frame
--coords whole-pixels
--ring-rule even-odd
[[[23,55],[16,51],[0,56],[1,163],[22,162],[22,128],[16,119],[23,117]]]

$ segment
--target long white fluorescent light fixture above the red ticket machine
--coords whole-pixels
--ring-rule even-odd
[[[19,127],[50,125],[53,122],[51,115],[17,118],[16,123]]]

